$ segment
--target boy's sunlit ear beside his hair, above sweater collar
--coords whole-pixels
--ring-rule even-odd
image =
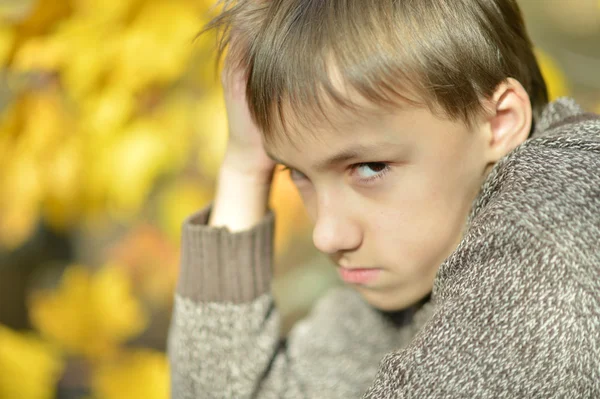
[[[509,78],[496,88],[488,117],[488,161],[495,163],[529,136],[532,110],[529,95],[517,80]]]

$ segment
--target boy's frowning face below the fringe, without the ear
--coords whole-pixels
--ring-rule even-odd
[[[431,291],[462,238],[488,136],[412,106],[337,119],[267,151],[291,168],[314,244],[342,279],[374,307],[406,308]]]

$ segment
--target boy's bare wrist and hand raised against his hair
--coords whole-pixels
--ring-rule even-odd
[[[265,216],[275,162],[267,156],[261,132],[250,117],[244,74],[226,69],[222,82],[229,139],[209,224],[235,232],[253,227]]]

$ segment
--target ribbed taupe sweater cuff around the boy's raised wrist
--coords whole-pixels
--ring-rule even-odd
[[[177,293],[197,302],[250,302],[270,291],[274,215],[232,233],[207,226],[211,208],[183,224]]]

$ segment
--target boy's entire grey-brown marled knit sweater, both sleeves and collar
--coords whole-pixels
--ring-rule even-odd
[[[550,104],[498,162],[432,294],[395,314],[328,293],[285,341],[273,215],[183,227],[174,399],[600,398],[600,118]]]

